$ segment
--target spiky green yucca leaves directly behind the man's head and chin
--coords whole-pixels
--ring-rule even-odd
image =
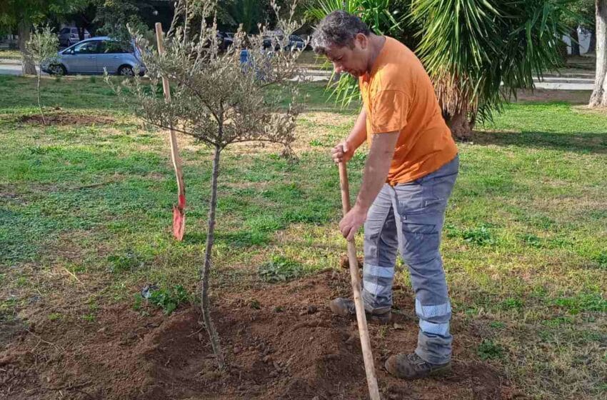
[[[388,35],[401,39],[405,32],[405,10],[410,0],[318,0],[306,11],[310,21],[320,21],[327,14],[343,10],[357,15],[373,33]],[[329,64],[326,64],[330,68]],[[331,76],[327,89],[331,91],[331,99],[341,106],[348,106],[353,100],[360,98],[358,81],[348,74]]]

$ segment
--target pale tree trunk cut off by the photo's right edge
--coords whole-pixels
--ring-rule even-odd
[[[607,106],[607,0],[596,0],[596,77],[588,106]]]

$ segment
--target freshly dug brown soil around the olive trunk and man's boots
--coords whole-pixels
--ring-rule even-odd
[[[214,319],[229,364],[224,373],[216,370],[193,306],[171,316],[109,306],[96,322],[31,314],[29,330],[21,329],[0,352],[0,398],[366,399],[356,321],[331,315],[326,305],[348,288],[346,271],[325,271],[221,294]],[[413,308],[402,291],[395,292],[395,302]],[[413,349],[417,340],[412,314],[397,314],[395,323],[369,326],[382,399],[521,399],[503,374],[476,359],[479,339],[457,320],[451,374],[392,378],[383,361]]]

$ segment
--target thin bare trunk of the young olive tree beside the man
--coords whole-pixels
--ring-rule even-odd
[[[219,176],[219,156],[221,155],[221,147],[215,145],[215,153],[213,156],[213,174],[211,176],[211,200],[209,201],[209,222],[206,236],[206,249],[204,254],[204,266],[201,271],[202,291],[201,291],[201,307],[202,318],[206,333],[209,334],[211,348],[217,358],[219,369],[223,370],[226,367],[224,354],[221,351],[219,344],[219,334],[211,319],[211,305],[209,304],[209,271],[211,270],[211,251],[213,250],[213,242],[215,239],[215,210],[217,208],[217,178]]]

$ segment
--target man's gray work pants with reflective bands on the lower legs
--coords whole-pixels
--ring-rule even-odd
[[[447,200],[459,159],[406,184],[384,185],[367,214],[363,301],[369,312],[392,306],[396,252],[408,265],[419,318],[416,354],[443,364],[451,359],[451,303],[439,252]]]

